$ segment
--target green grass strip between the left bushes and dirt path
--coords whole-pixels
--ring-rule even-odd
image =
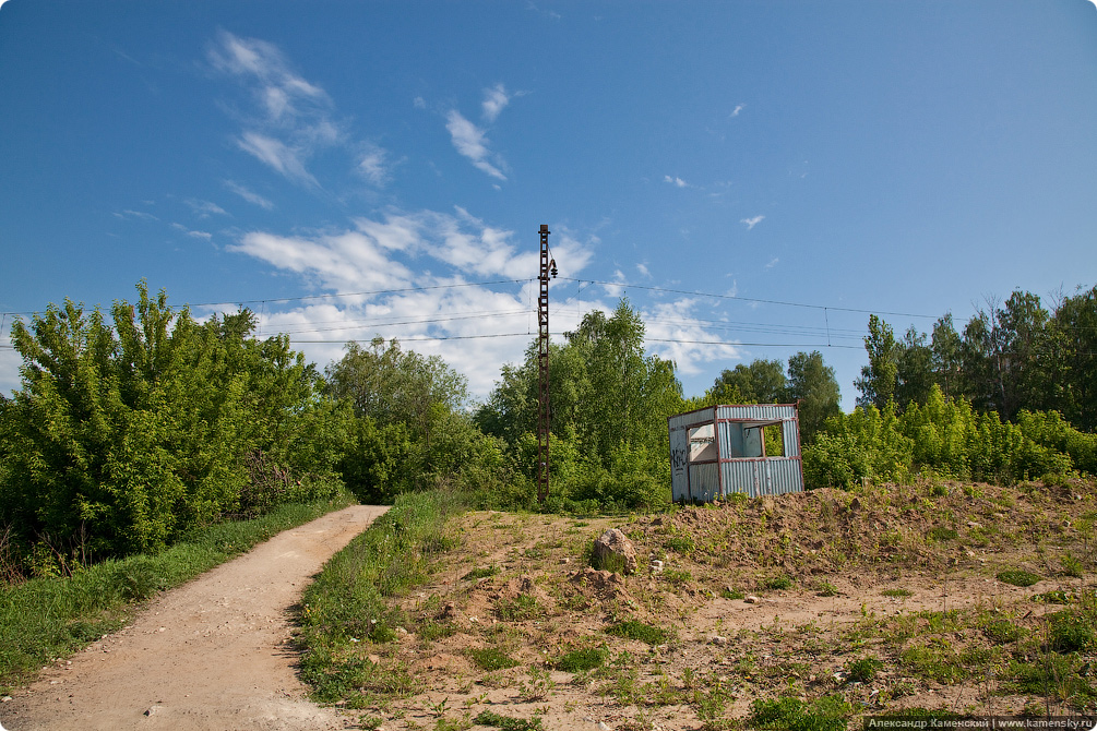
[[[156,556],[108,560],[71,576],[0,587],[0,690],[29,682],[46,664],[123,627],[135,604],[249,550],[275,534],[350,504],[281,505],[250,521],[195,529]]]

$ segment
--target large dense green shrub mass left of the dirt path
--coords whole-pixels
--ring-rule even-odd
[[[22,387],[0,400],[0,526],[27,569],[48,573],[33,557],[49,552],[157,551],[338,488],[333,407],[287,338],[251,338],[246,310],[199,323],[138,293],[113,305],[113,325],[66,301],[12,327]]]

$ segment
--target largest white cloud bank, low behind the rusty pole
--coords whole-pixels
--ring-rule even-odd
[[[562,271],[579,273],[590,260],[589,244],[564,227],[554,228],[553,253]],[[229,249],[321,290],[359,293],[280,313],[264,311],[263,328],[290,333],[294,346],[317,363],[340,357],[339,343],[346,340],[396,336],[466,374],[472,392],[483,398],[499,367],[520,361],[535,336],[539,254],[527,244],[520,245],[512,231],[456,208],[391,210],[376,219],[357,218],[350,230],[308,236],[251,231]],[[471,283],[487,278],[519,282]],[[554,300],[555,328],[574,329],[577,311],[575,302]]]

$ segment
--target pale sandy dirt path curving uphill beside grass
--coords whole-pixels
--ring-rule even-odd
[[[150,602],[122,631],[0,706],[32,729],[343,729],[305,698],[287,640],[309,578],[386,507],[354,505],[286,530]]]

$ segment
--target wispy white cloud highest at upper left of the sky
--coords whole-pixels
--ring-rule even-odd
[[[327,93],[294,71],[278,46],[265,41],[222,31],[206,58],[244,84],[255,104],[237,146],[295,182],[318,185],[305,163],[344,137]]]

